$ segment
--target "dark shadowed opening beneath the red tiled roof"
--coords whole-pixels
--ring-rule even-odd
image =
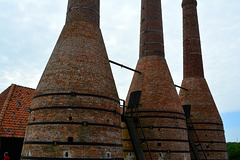
[[[20,160],[23,138],[0,138],[0,159],[4,159],[4,153],[8,152],[11,160]]]

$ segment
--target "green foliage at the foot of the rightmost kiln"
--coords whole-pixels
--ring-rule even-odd
[[[227,143],[229,160],[240,160],[240,143]]]

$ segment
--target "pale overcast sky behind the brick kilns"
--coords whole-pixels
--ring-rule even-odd
[[[36,88],[66,18],[67,0],[0,0],[0,92],[12,83]],[[240,1],[198,0],[205,78],[228,141],[240,140]],[[182,81],[181,0],[162,0],[165,54]],[[101,29],[110,60],[135,68],[140,0],[101,0]],[[119,97],[133,73],[112,65]]]

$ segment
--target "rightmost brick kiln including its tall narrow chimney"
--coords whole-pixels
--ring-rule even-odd
[[[201,159],[227,160],[223,123],[203,73],[197,17],[197,1],[183,0],[184,79],[180,90],[183,105],[191,105],[188,122]],[[199,141],[198,141],[199,140]],[[200,142],[200,143],[199,143]],[[193,153],[191,158],[194,159]]]

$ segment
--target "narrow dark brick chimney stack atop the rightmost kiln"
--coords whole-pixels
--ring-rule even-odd
[[[183,1],[184,77],[203,77],[196,0]]]

